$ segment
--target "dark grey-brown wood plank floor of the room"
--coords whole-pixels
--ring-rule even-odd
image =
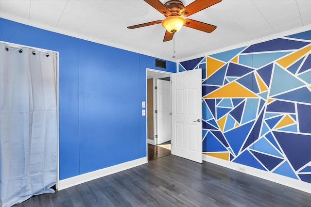
[[[311,194],[173,155],[15,207],[310,207]]]

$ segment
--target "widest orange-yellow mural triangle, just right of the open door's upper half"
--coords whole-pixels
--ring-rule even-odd
[[[225,86],[213,91],[210,94],[207,94],[203,98],[234,98],[234,97],[258,97],[253,92],[244,88],[237,82],[231,82],[226,84]]]

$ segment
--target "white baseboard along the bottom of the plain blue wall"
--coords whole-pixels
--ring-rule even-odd
[[[136,167],[138,165],[145,164],[147,162],[148,162],[148,158],[144,157],[144,158],[140,158],[140,159],[135,159],[135,160],[132,160],[132,161],[124,162],[124,163],[121,163],[121,164],[118,164],[118,165],[114,165],[114,166],[111,166],[111,167],[107,167],[107,168],[104,168],[104,169],[100,169],[100,170],[96,170],[96,171],[93,171],[93,172],[89,172],[89,173],[86,173],[86,174],[70,177],[70,178],[67,178],[67,179],[64,179],[64,180],[59,180],[58,181],[58,185],[57,185],[58,186],[57,190],[60,191],[60,190],[63,190],[63,189],[66,189],[66,188],[69,188],[69,187],[72,187],[72,186],[75,186],[75,185],[78,185],[78,184],[81,184],[81,183],[85,183],[85,182],[90,181],[90,180],[94,180],[94,179],[97,179],[97,178],[100,178],[100,177],[104,177],[106,175],[111,175],[111,174],[114,174],[114,173],[118,173],[118,172],[121,172],[123,170],[127,170],[127,169],[130,169],[130,168]]]

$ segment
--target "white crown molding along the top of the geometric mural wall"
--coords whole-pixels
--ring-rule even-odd
[[[178,71],[178,64],[180,62],[189,61],[189,60],[193,60],[193,59],[201,58],[201,57],[206,57],[208,55],[217,54],[217,53],[220,53],[220,52],[225,52],[225,51],[228,51],[228,50],[231,50],[231,49],[247,47],[247,46],[250,46],[250,45],[266,42],[266,41],[273,40],[273,39],[280,38],[280,37],[285,37],[285,36],[292,35],[292,34],[295,34],[295,33],[306,32],[306,31],[309,31],[309,30],[311,30],[311,24],[303,26],[303,27],[295,28],[293,30],[289,30],[289,31],[285,31],[285,32],[280,32],[280,33],[276,33],[276,34],[273,34],[273,35],[270,35],[270,36],[262,37],[262,38],[259,38],[259,39],[256,39],[256,40],[251,40],[251,41],[243,42],[243,43],[240,43],[240,44],[237,44],[237,45],[232,45],[232,46],[229,46],[229,47],[220,48],[220,49],[208,51],[208,52],[205,52],[205,53],[193,55],[193,56],[190,56],[190,57],[187,57],[187,58],[178,59],[178,60],[176,60],[177,71]]]

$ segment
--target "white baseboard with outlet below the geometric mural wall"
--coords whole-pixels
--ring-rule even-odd
[[[214,157],[204,155],[204,154],[203,154],[203,160],[216,164],[216,165],[220,165],[220,166],[232,169],[232,170],[236,170],[236,171],[238,171],[238,167],[243,166],[245,168],[246,174],[248,175],[253,175],[253,176],[265,179],[265,180],[269,180],[269,181],[272,181],[272,182],[275,182],[275,183],[278,183],[284,186],[297,189],[299,191],[305,191],[305,192],[311,193],[311,184],[304,182],[304,181],[299,181],[294,178],[259,170],[257,168],[253,168],[253,167],[242,165],[242,164],[235,163],[235,162],[229,162],[224,159],[218,159],[218,158],[214,158]],[[241,172],[241,173],[244,173],[244,172]]]

